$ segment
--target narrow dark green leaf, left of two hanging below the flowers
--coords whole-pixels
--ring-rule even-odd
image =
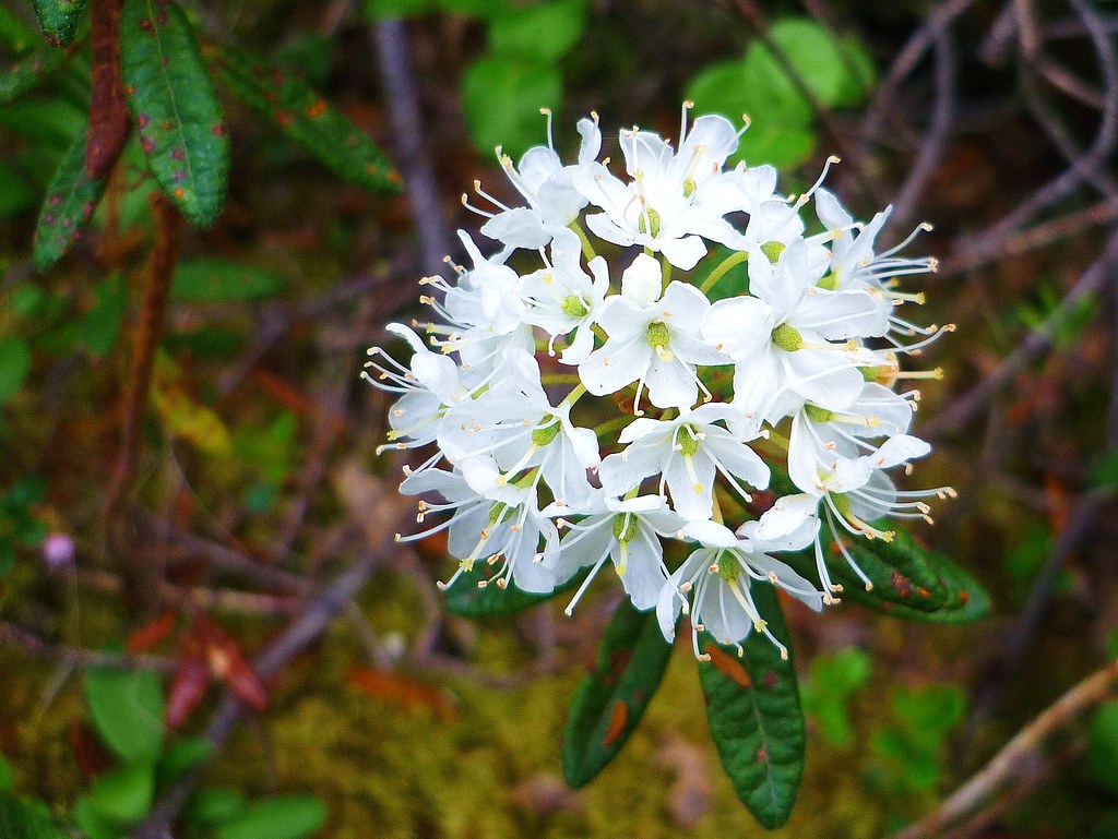
[[[617,756],[660,687],[672,645],[656,612],[623,600],[598,647],[598,660],[578,683],[563,730],[563,776],[582,786]]]

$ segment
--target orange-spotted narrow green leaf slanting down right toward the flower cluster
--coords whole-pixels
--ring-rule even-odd
[[[220,49],[216,57],[230,93],[326,169],[371,190],[399,192],[399,174],[385,153],[297,75],[239,49]]]

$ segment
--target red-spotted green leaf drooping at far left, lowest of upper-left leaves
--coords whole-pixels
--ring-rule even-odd
[[[93,216],[105,183],[85,172],[85,131],[80,131],[63,155],[39,211],[31,255],[36,270],[49,270],[69,250]]]

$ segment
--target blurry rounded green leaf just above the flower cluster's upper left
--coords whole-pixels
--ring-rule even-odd
[[[512,158],[543,142],[541,107],[558,111],[562,77],[555,67],[487,57],[471,65],[462,79],[462,107],[477,149],[498,145]]]

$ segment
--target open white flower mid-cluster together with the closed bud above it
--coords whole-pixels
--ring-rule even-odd
[[[652,257],[642,254],[626,274],[627,280],[633,275],[651,279],[659,277],[659,269]],[[635,279],[631,282],[637,285]],[[578,365],[579,378],[590,393],[616,393],[636,382],[634,406],[639,411],[645,387],[657,408],[690,408],[700,389],[708,392],[695,365],[724,364],[728,359],[699,337],[710,311],[702,292],[674,282],[661,299],[648,305],[625,294],[607,303],[598,324],[609,337]]]

